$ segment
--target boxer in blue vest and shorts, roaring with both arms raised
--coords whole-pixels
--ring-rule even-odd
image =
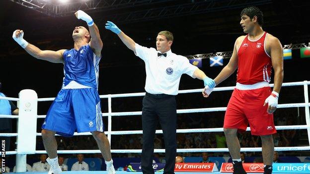
[[[55,133],[70,137],[75,130],[91,132],[107,165],[108,174],[115,174],[109,140],[104,134],[100,98],[98,95],[99,61],[103,43],[98,27],[84,11],[75,15],[84,20],[89,31],[75,27],[71,50],[42,51],[23,39],[24,32],[15,30],[13,39],[31,56],[64,64],[64,82],[42,125],[42,138],[51,165],[48,174],[60,174]]]

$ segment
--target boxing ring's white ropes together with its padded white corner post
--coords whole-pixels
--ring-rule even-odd
[[[279,104],[278,108],[296,108],[296,107],[304,107],[305,108],[305,116],[306,116],[306,125],[285,125],[285,126],[276,126],[277,130],[288,130],[288,129],[307,129],[308,133],[308,142],[310,144],[310,103],[309,103],[309,94],[308,94],[308,85],[310,85],[310,81],[303,82],[291,82],[291,83],[283,83],[282,87],[289,86],[302,86],[304,87],[304,103],[288,103],[288,104]],[[270,84],[273,87],[273,84]],[[228,91],[233,90],[234,86],[230,87],[217,87],[214,89],[214,93],[218,91]],[[191,89],[191,90],[180,90],[179,94],[187,94],[187,93],[201,93],[202,89]],[[102,113],[102,116],[108,117],[107,123],[107,131],[105,134],[107,135],[110,143],[111,135],[126,135],[126,134],[142,134],[142,130],[126,130],[126,131],[112,131],[112,116],[141,116],[142,111],[137,112],[112,112],[111,102],[113,98],[121,98],[121,97],[139,97],[144,96],[145,92],[142,93],[127,93],[127,94],[109,94],[109,95],[100,95],[100,98],[104,98],[108,100],[108,112]],[[285,95],[281,93],[281,95]],[[17,133],[0,133],[0,136],[17,136],[17,149],[16,151],[7,151],[6,155],[16,155],[16,171],[25,171],[26,165],[26,155],[27,154],[43,154],[46,151],[39,151],[35,149],[36,136],[41,136],[41,133],[36,132],[36,122],[37,118],[45,118],[46,115],[37,115],[37,102],[44,101],[53,101],[55,98],[37,98],[37,95],[32,90],[23,90],[19,93],[19,98],[9,98],[9,97],[0,97],[0,99],[6,99],[10,101],[17,101],[19,105],[19,116],[8,116],[8,115],[0,115],[0,118],[18,118],[18,131]],[[208,99],[206,99],[208,100]],[[30,105],[30,106],[29,106]],[[226,111],[226,107],[215,107],[215,108],[198,108],[198,109],[181,109],[177,110],[177,114],[185,114],[185,113],[203,113],[203,112],[219,112]],[[23,122],[27,122],[27,124],[22,124]],[[31,127],[30,125],[34,126]],[[30,127],[30,128],[29,128]],[[195,128],[195,129],[177,129],[177,133],[202,133],[202,132],[223,132],[223,128]],[[250,128],[247,127],[246,131],[250,131]],[[161,134],[162,130],[156,130],[156,134]],[[85,133],[77,133],[75,132],[74,136],[77,135],[91,135],[90,132]],[[34,145],[33,145],[34,144]],[[30,147],[29,147],[30,146]],[[310,150],[309,146],[297,146],[297,147],[275,147],[275,151],[307,151]],[[244,148],[241,147],[242,152],[259,152],[261,148]],[[141,149],[111,149],[111,153],[141,153]],[[164,153],[164,149],[155,149],[155,153]],[[191,149],[177,149],[178,153],[186,153],[186,152],[229,152],[228,148],[191,148]],[[59,154],[72,154],[72,153],[83,153],[83,154],[93,154],[100,153],[100,150],[58,150]],[[27,172],[25,174],[46,174],[38,173],[38,172]],[[63,174],[106,174],[106,172],[102,171],[89,171],[89,172],[63,172]],[[116,174],[125,174],[128,172],[116,171]],[[139,172],[135,172],[135,174],[142,174]],[[156,173],[157,174],[157,173]],[[158,173],[162,174],[162,173]],[[181,174],[181,173],[178,173]],[[184,172],[182,174],[185,174]],[[186,172],[186,174],[194,174],[190,172]],[[197,174],[197,172],[196,172]],[[207,173],[200,173],[207,174]],[[220,172],[214,172],[213,174],[221,174]],[[229,174],[229,173],[226,173]]]

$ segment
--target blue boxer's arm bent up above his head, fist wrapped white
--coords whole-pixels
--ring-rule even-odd
[[[78,10],[75,15],[78,19],[81,19],[87,23],[90,34],[90,42],[88,44],[95,53],[95,55],[100,57],[103,43],[100,38],[97,25],[93,22],[92,18],[82,10]]]

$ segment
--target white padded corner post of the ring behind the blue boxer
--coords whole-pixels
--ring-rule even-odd
[[[17,121],[16,172],[26,172],[27,154],[35,154],[37,136],[38,95],[34,90],[19,92]]]

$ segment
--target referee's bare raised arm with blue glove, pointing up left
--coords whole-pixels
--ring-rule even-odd
[[[117,34],[117,36],[122,40],[126,47],[135,52],[136,54],[135,41],[129,36],[127,36],[124,32],[122,32],[113,22],[107,21],[107,23],[105,24],[105,28]]]

